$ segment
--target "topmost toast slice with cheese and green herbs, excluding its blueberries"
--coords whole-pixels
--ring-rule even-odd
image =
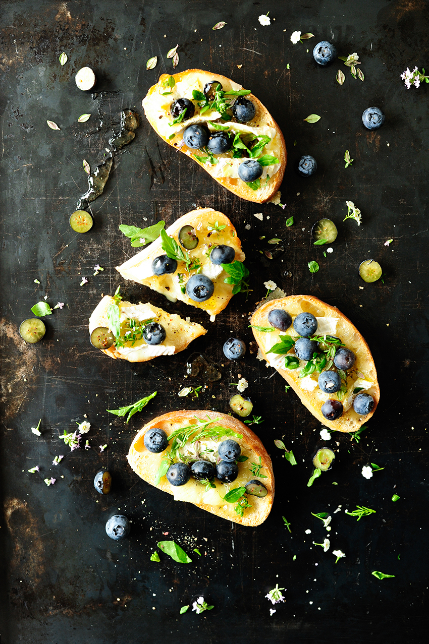
[[[216,93],[218,84],[222,89]],[[162,74],[158,83],[149,89],[142,106],[149,123],[166,143],[193,159],[232,193],[262,204],[270,200],[280,187],[287,152],[283,134],[274,118],[248,91],[220,74],[187,70],[173,76]],[[187,105],[186,112],[182,111],[175,118],[171,114],[171,106],[178,99],[188,102],[182,106],[179,104],[176,111]],[[251,101],[254,114],[252,108],[251,118],[244,120],[244,115],[240,122],[234,117],[233,105],[243,99]],[[193,113],[191,117],[190,112]],[[204,126],[206,135],[224,132],[231,147],[225,152],[213,153],[211,149],[216,148],[211,147],[212,143],[207,148],[204,140],[202,147],[187,146],[184,133],[196,125]],[[256,160],[262,166],[262,174],[256,181],[245,181],[238,175],[238,167],[248,160]]]

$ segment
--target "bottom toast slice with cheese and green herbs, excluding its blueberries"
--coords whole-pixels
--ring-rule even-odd
[[[169,438],[166,450],[161,453],[149,451],[144,444],[144,435],[153,428],[165,431],[168,438],[174,432],[176,437]],[[238,462],[236,480],[225,484],[214,478],[214,487],[193,477],[181,486],[172,486],[168,482],[166,468],[173,461],[193,462],[205,459],[216,464],[218,445],[225,439],[238,442],[241,457],[247,457],[246,460]],[[169,457],[173,459],[170,460]],[[222,516],[242,526],[259,526],[271,511],[274,498],[271,459],[261,440],[247,425],[224,413],[183,410],[158,416],[138,431],[127,458],[129,465],[139,477],[173,495],[175,500],[193,503],[213,515]],[[224,500],[227,492],[243,488],[252,480],[258,480],[265,486],[265,497],[243,493],[234,502]]]

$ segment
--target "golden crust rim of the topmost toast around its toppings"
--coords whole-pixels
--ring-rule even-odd
[[[225,76],[222,76],[220,74],[210,73],[203,70],[186,70],[186,71],[181,71],[180,73],[177,73],[177,74],[173,74],[173,78],[175,79],[176,84],[182,81],[186,82],[187,79],[192,79],[193,77],[196,77],[196,79],[199,79],[200,86],[202,87],[204,87],[204,84],[206,82],[218,81],[222,84],[222,87],[224,88],[224,90],[231,89],[231,88],[234,90],[243,89],[243,87],[240,84],[234,81],[231,81],[231,79],[228,79]],[[214,170],[216,166],[207,165],[205,163],[202,163],[198,159],[196,159],[195,156],[193,155],[195,155],[195,153],[198,153],[198,151],[195,149],[190,149],[185,144],[183,144],[182,133],[179,133],[178,135],[176,135],[176,137],[170,139],[166,136],[166,133],[163,133],[161,131],[161,124],[160,124],[161,114],[160,114],[160,111],[157,111],[157,106],[165,105],[169,107],[169,103],[172,102],[171,99],[169,99],[168,97],[163,97],[161,93],[163,90],[165,91],[165,88],[162,87],[162,82],[163,81],[166,82],[168,78],[169,78],[169,74],[162,74],[160,76],[158,83],[156,85],[153,85],[149,89],[148,94],[142,101],[142,106],[144,108],[144,113],[146,115],[146,118],[148,118],[149,123],[151,124],[153,129],[155,129],[157,134],[167,144],[169,144],[169,146],[175,147],[175,149],[179,149],[180,152],[192,158],[192,160],[195,161],[199,166],[204,168],[204,170],[207,173],[209,173],[209,175],[211,175],[215,181],[223,185],[231,193],[234,193],[239,197],[246,199],[247,201],[256,202],[258,204],[263,204],[269,201],[272,198],[272,196],[276,194],[283,180],[283,175],[285,173],[285,167],[287,164],[287,151],[286,151],[286,145],[285,145],[285,139],[283,137],[283,133],[281,133],[281,130],[278,124],[276,123],[274,118],[272,118],[267,108],[265,108],[262,102],[258,98],[256,98],[256,96],[254,96],[253,94],[246,95],[246,98],[251,100],[256,108],[256,113],[254,118],[251,121],[249,121],[246,125],[254,128],[261,128],[263,126],[268,126],[269,128],[273,128],[276,131],[276,135],[278,136],[278,155],[277,156],[280,162],[280,169],[278,169],[276,174],[272,176],[269,183],[264,183],[262,187],[260,187],[260,189],[253,190],[239,178],[228,178],[227,176],[223,176],[223,177],[214,176]],[[155,98],[157,99],[156,102],[154,100]],[[164,110],[164,114],[162,115],[162,117],[169,118],[170,120],[172,119],[172,117],[169,115],[166,109]],[[240,126],[240,124],[237,124],[237,126]],[[186,127],[186,121],[184,121],[184,126],[182,126],[182,128],[184,127]]]

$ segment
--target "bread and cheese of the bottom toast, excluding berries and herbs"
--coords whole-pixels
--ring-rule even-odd
[[[208,428],[220,426],[230,433],[229,435],[225,435],[224,433],[217,440],[216,437],[199,440],[199,458],[211,460],[215,464],[218,444],[228,438],[236,440],[242,449],[242,456],[247,457],[247,460],[244,462],[238,462],[238,478],[229,484],[221,483],[215,478],[214,484],[216,488],[209,488],[208,491],[205,491],[205,484],[196,481],[193,477],[185,485],[174,487],[169,484],[166,476],[163,476],[157,485],[158,468],[164,457],[166,457],[166,451],[171,453],[173,441],[169,443],[166,451],[160,454],[154,454],[144,446],[144,434],[146,431],[157,427],[164,430],[167,436],[169,436],[173,431],[195,424],[195,433],[193,433],[193,438],[195,439],[198,431],[200,431],[198,430],[198,425],[209,420],[212,422],[207,426]],[[214,451],[202,454],[205,447]],[[187,440],[186,444],[180,447],[180,452],[185,453],[191,459],[194,457],[195,460],[198,460],[198,457],[196,457],[195,443],[192,444],[191,439]],[[191,410],[164,413],[164,415],[152,419],[138,432],[129,448],[127,458],[129,465],[139,477],[151,485],[162,489],[162,491],[173,495],[175,500],[193,503],[195,506],[211,512],[213,515],[222,516],[222,518],[242,524],[242,526],[259,526],[265,521],[271,510],[272,500],[274,498],[274,475],[272,473],[271,459],[256,434],[249,430],[243,422],[225,413]],[[250,468],[252,467],[252,463],[259,464],[259,459],[261,459],[262,469],[260,470],[260,475],[257,476],[251,473]],[[263,478],[261,475],[265,475],[266,478]],[[267,488],[267,495],[263,498],[247,495],[247,502],[252,507],[245,508],[243,510],[243,516],[240,516],[234,511],[236,503],[227,503],[222,497],[225,497],[225,494],[229,490],[244,486],[254,479],[263,482]]]

